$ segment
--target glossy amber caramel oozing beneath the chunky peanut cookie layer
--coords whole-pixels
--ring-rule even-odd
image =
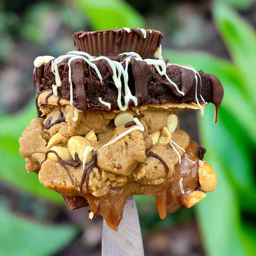
[[[112,188],[107,195],[96,197],[91,194],[84,195],[94,215],[101,215],[110,228],[118,230],[122,219],[122,211],[126,199],[130,195],[156,195],[158,213],[161,219],[166,217],[167,212],[176,212],[182,205],[180,198],[183,195],[179,181],[183,178],[185,194],[197,190],[198,182],[198,158],[196,156],[197,144],[190,142],[184,153],[181,164],[174,167],[171,178],[158,185],[145,185],[131,182],[122,187]]]

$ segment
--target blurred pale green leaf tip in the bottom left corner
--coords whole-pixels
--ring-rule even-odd
[[[42,225],[0,208],[0,255],[45,256],[58,253],[78,233],[74,226]]]

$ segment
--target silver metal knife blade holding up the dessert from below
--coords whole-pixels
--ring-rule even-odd
[[[128,197],[118,231],[103,219],[102,256],[144,256],[140,223],[134,196]]]

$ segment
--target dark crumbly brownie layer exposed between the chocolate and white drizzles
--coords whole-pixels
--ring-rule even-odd
[[[62,61],[59,67],[59,73],[61,77],[61,97],[67,100],[70,99],[70,83],[68,79],[68,59]],[[95,64],[98,67],[99,72],[103,77],[103,82],[100,82],[98,75],[94,70],[83,61],[83,73],[84,73],[84,89],[86,96],[86,105],[87,109],[106,109],[106,106],[99,102],[99,97],[103,101],[106,101],[111,104],[111,110],[118,110],[117,97],[118,92],[117,88],[113,82],[113,79],[110,75],[108,66],[104,61],[95,61]],[[122,64],[123,66],[125,64]],[[147,75],[146,75],[146,89],[147,95],[145,100],[139,100],[139,105],[145,104],[163,104],[163,103],[195,103],[195,73],[192,70],[188,70],[179,65],[167,66],[167,75],[173,83],[175,83],[178,88],[184,91],[183,87],[189,87],[189,90],[185,93],[184,96],[179,95],[176,90],[173,88],[171,83],[168,82],[165,76],[159,75],[155,66],[146,65]],[[42,85],[40,86],[39,91],[41,90],[51,90],[52,85],[56,84],[55,75],[51,71],[51,61],[45,64],[42,70]],[[213,82],[210,79],[209,74],[204,73],[203,71],[198,72],[202,80],[201,96],[206,102],[213,102],[212,99],[212,86]],[[136,86],[134,73],[132,70],[132,65],[129,64],[128,68],[128,85],[133,95],[136,95]],[[200,77],[197,75],[197,98],[200,103],[203,103],[203,100],[200,97]],[[214,78],[218,79],[214,76]],[[186,88],[185,88],[186,89]],[[123,90],[123,86],[122,86]],[[175,95],[176,94],[176,95]],[[122,103],[124,103],[122,99]],[[81,102],[79,102],[77,97],[76,86],[73,84],[73,105],[77,109],[81,110]]]

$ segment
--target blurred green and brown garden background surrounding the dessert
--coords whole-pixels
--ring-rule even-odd
[[[27,174],[18,139],[36,117],[33,61],[75,49],[80,30],[160,30],[163,56],[217,75],[224,99],[181,126],[217,173],[218,188],[193,208],[158,217],[153,196],[136,196],[148,256],[256,254],[256,1],[0,0],[0,255],[96,256],[102,219],[68,211],[61,195]]]

